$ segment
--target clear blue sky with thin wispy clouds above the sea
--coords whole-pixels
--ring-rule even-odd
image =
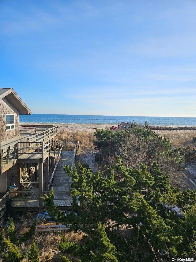
[[[33,113],[196,117],[196,1],[1,0],[0,87]]]

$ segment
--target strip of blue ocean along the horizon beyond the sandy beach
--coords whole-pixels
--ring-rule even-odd
[[[186,117],[137,117],[137,116],[94,116],[94,115],[58,115],[32,114],[20,115],[20,123],[51,123],[51,124],[118,124],[132,122],[149,125],[196,126],[196,118]]]

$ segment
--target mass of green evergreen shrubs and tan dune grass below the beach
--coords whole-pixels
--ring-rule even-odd
[[[176,148],[193,148],[196,131],[156,133],[159,136],[137,128],[132,132],[59,131],[56,141],[79,141],[78,156],[94,150],[98,152],[100,166],[108,167],[96,175],[81,164],[73,171],[64,167],[75,182],[73,211],[79,215],[64,216],[58,210],[55,221],[70,225],[71,231],[34,231],[21,241],[10,222],[0,234],[4,259],[0,261],[170,261],[173,257],[194,257],[196,231],[192,220],[195,221],[196,194],[190,189],[180,190],[181,183],[177,185],[180,177],[173,171],[182,158],[177,151],[172,152],[171,144]],[[168,172],[172,166],[173,176]],[[148,191],[146,195],[143,187]],[[76,204],[78,196],[82,206]],[[179,206],[181,217],[166,208],[166,204]],[[55,210],[53,201],[47,203],[47,199],[45,207]],[[33,217],[27,224],[25,219],[17,231],[32,221]],[[160,255],[161,250],[166,250],[164,255]],[[30,256],[34,260],[29,260]]]

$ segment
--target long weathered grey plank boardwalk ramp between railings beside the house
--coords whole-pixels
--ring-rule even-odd
[[[55,195],[69,195],[69,192],[63,193],[63,191],[70,190],[70,177],[65,173],[63,167],[69,164],[71,168],[73,157],[74,151],[62,151],[61,160],[58,164],[58,168],[55,173],[55,178],[52,183]]]

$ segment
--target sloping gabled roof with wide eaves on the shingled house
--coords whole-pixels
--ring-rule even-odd
[[[31,115],[32,112],[22,99],[17,95],[13,88],[0,88],[0,99],[6,98],[21,115]]]

